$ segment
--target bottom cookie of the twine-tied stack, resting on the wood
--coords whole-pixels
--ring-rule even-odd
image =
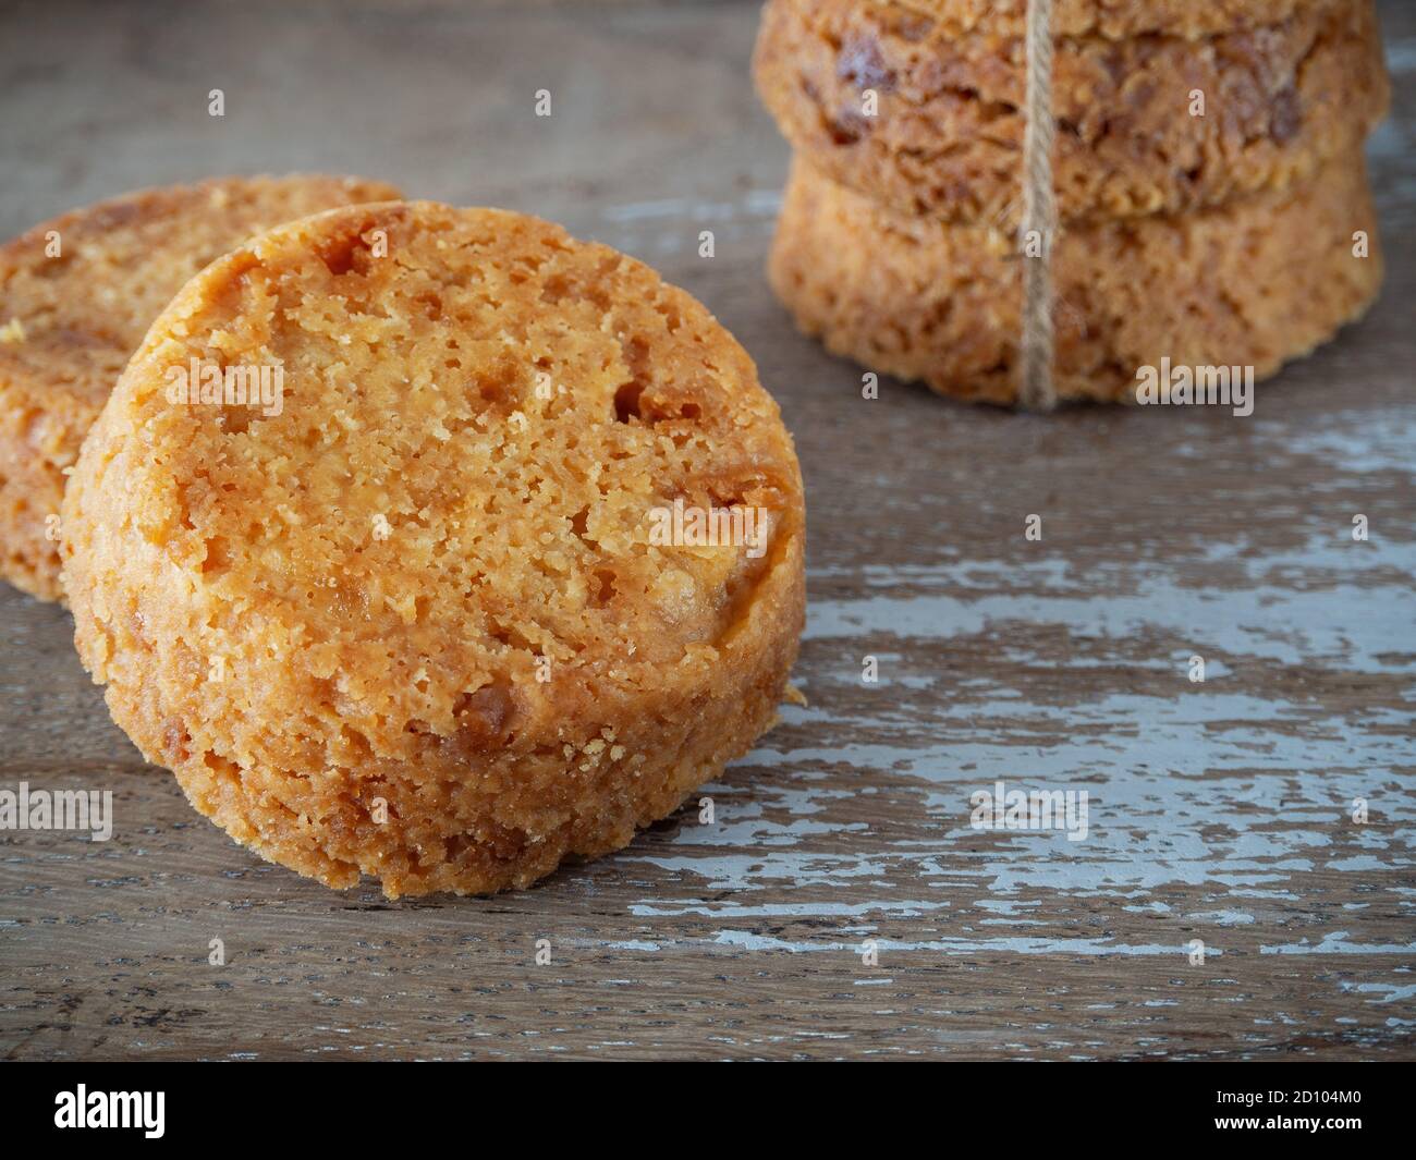
[[[797,160],[769,275],[833,353],[1011,404],[1022,261],[1001,231],[892,215]],[[1137,368],[1163,358],[1270,375],[1364,313],[1382,280],[1359,152],[1289,190],[1066,229],[1051,262],[1058,397],[1109,402],[1134,399]]]

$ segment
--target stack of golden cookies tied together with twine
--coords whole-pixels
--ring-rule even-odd
[[[837,354],[1014,402],[1025,0],[769,0],[756,84],[796,149],[770,261]],[[1362,144],[1388,103],[1372,0],[1054,0],[1061,399],[1143,367],[1331,339],[1382,268]]]

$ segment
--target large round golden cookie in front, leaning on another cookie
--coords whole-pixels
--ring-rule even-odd
[[[190,402],[208,365],[280,367],[283,405]],[[143,754],[263,857],[391,898],[624,846],[773,722],[803,623],[752,360],[647,266],[496,210],[337,210],[211,265],[64,528]]]

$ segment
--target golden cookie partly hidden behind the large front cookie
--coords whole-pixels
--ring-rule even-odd
[[[351,177],[227,177],[75,210],[0,246],[0,576],[62,598],[64,472],[188,278],[282,221],[398,197]]]

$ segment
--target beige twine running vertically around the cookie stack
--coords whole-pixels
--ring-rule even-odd
[[[1052,385],[1052,235],[1058,207],[1052,193],[1052,0],[1028,0],[1028,123],[1022,130],[1022,381],[1018,404],[1051,411]],[[1037,239],[1037,252],[1028,244]]]

